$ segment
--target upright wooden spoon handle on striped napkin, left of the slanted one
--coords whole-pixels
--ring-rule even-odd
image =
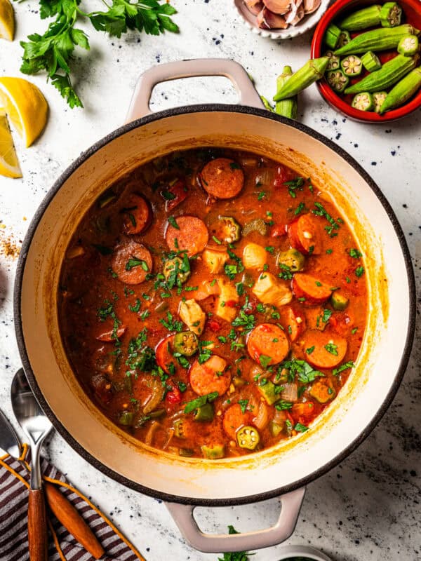
[[[46,504],[42,489],[29,489],[28,542],[29,559],[31,561],[46,561],[48,534]]]

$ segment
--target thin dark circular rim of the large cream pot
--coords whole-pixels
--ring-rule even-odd
[[[316,140],[319,140],[319,142],[321,142],[331,150],[335,151],[335,153],[341,156],[345,161],[347,161],[349,165],[352,165],[352,168],[354,168],[354,170],[356,170],[356,172],[359,173],[361,177],[363,177],[363,180],[365,180],[367,184],[370,186],[370,188],[373,190],[378,200],[382,204],[383,208],[385,208],[385,211],[387,212],[390,221],[392,222],[392,225],[396,232],[396,236],[399,239],[399,243],[401,245],[403,257],[405,259],[406,275],[408,276],[408,285],[409,285],[408,330],[406,332],[406,342],[401,357],[401,362],[399,364],[399,368],[396,372],[396,376],[394,378],[392,386],[389,389],[389,393],[387,393],[384,402],[380,406],[379,410],[376,412],[373,419],[366,426],[366,428],[364,428],[363,431],[361,431],[359,436],[349,446],[347,446],[345,450],[342,450],[342,452],[340,452],[340,454],[338,454],[335,458],[331,459],[323,467],[310,473],[305,478],[297,480],[291,483],[290,485],[285,485],[283,487],[271,489],[270,491],[267,492],[235,497],[233,499],[200,499],[200,498],[194,498],[188,496],[177,496],[177,495],[166,494],[156,489],[150,489],[149,487],[145,487],[143,485],[140,485],[140,483],[136,483],[126,477],[123,477],[123,475],[117,473],[116,471],[110,468],[107,468],[107,466],[105,466],[100,461],[98,461],[98,459],[96,459],[91,454],[89,454],[89,452],[87,452],[83,447],[81,447],[81,445],[79,445],[79,442],[77,442],[72,437],[72,435],[70,435],[69,432],[67,432],[65,426],[63,426],[60,423],[60,421],[58,421],[57,417],[55,417],[55,414],[48,406],[48,403],[46,403],[46,400],[44,399],[44,396],[41,393],[34,372],[32,372],[29,356],[27,355],[25,338],[23,336],[23,330],[22,330],[22,318],[20,315],[22,278],[23,278],[23,273],[25,270],[25,262],[27,259],[29,247],[32,242],[32,238],[34,236],[36,228],[38,227],[41,217],[44,215],[44,212],[48,207],[49,203],[51,203],[55,194],[57,194],[60,187],[62,187],[62,184],[70,177],[70,175],[72,175],[72,173],[74,173],[74,171],[77,168],[79,168],[79,165],[81,165],[84,161],[86,161],[90,156],[95,154],[95,152],[102,149],[102,147],[105,147],[107,144],[109,144],[109,142],[112,142],[112,140],[147,123],[151,123],[153,121],[159,121],[160,119],[166,119],[172,116],[184,115],[189,113],[203,113],[203,112],[209,113],[214,111],[249,114],[253,116],[259,116],[262,119],[279,121],[280,123],[283,123],[283,125],[296,128],[302,131],[302,133],[305,133],[315,138]],[[122,485],[125,485],[126,487],[129,487],[130,489],[134,489],[135,491],[139,491],[141,493],[147,494],[149,496],[153,496],[156,499],[161,499],[163,501],[190,504],[194,506],[230,506],[230,505],[241,505],[241,504],[253,503],[258,501],[265,501],[267,499],[273,499],[274,497],[281,496],[282,494],[286,494],[295,489],[308,485],[310,482],[321,477],[321,475],[324,475],[332,468],[337,466],[349,454],[351,454],[351,452],[353,452],[356,449],[356,447],[358,447],[361,444],[361,442],[363,442],[363,440],[365,440],[368,437],[370,432],[373,431],[373,428],[375,428],[377,423],[385,414],[389,405],[392,403],[396,391],[398,391],[399,385],[401,384],[401,380],[403,378],[403,374],[405,373],[406,366],[408,365],[408,360],[410,357],[410,351],[412,348],[413,337],[415,332],[415,278],[413,273],[413,267],[410,260],[408,245],[406,244],[403,231],[398,222],[398,219],[396,218],[396,215],[394,214],[394,211],[392,210],[391,205],[389,205],[387,198],[385,198],[385,196],[382,194],[382,191],[380,191],[380,188],[377,187],[377,184],[375,184],[375,182],[370,177],[370,175],[368,175],[368,173],[366,173],[366,171],[363,170],[363,168],[361,168],[361,165],[359,165],[359,163],[356,162],[356,160],[354,160],[352,156],[347,154],[345,150],[340,148],[337,144],[335,144],[335,142],[332,142],[328,138],[317,133],[315,130],[312,130],[312,128],[309,128],[303,125],[302,123],[298,123],[297,121],[290,121],[290,119],[286,119],[274,113],[270,113],[265,109],[256,109],[254,107],[247,107],[241,105],[228,105],[228,104],[227,105],[204,104],[204,105],[192,105],[187,107],[177,107],[175,109],[166,109],[165,111],[159,111],[158,113],[147,115],[145,117],[142,117],[141,119],[137,119],[136,121],[123,125],[120,128],[117,128],[112,133],[102,138],[102,140],[99,140],[98,142],[93,144],[93,146],[88,150],[86,150],[85,152],[83,152],[79,156],[79,158],[76,158],[74,163],[72,163],[72,165],[70,165],[69,168],[67,168],[67,170],[65,170],[65,172],[62,173],[60,178],[53,184],[53,187],[50,189],[50,191],[48,191],[46,197],[44,198],[44,201],[41,202],[41,205],[39,205],[39,208],[36,210],[36,213],[32,219],[31,224],[29,224],[29,229],[22,243],[22,250],[20,252],[18,267],[16,271],[13,305],[14,305],[14,316],[15,316],[15,333],[16,333],[16,338],[18,340],[18,349],[20,351],[20,357],[22,358],[22,364],[25,369],[25,373],[27,375],[29,384],[36,396],[36,399],[39,401],[39,404],[41,405],[42,409],[46,413],[48,419],[51,420],[53,426],[55,426],[57,431],[60,433],[60,435],[62,435],[62,437],[67,441],[67,443],[81,457],[83,457],[83,459],[86,459],[86,461],[92,464],[99,471],[102,471],[102,473],[105,473],[105,475],[107,475],[109,478],[116,480],[117,482],[121,483]]]

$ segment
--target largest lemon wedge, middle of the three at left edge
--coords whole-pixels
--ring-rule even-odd
[[[0,108],[6,111],[25,147],[30,146],[46,126],[46,99],[39,88],[23,78],[0,78]]]

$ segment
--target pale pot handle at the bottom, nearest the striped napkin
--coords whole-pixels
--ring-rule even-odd
[[[179,503],[166,503],[175,524],[188,543],[204,553],[222,553],[230,551],[250,551],[276,546],[293,533],[304,499],[305,487],[279,497],[281,514],[274,526],[258,532],[246,534],[204,534],[193,512],[195,506]]]

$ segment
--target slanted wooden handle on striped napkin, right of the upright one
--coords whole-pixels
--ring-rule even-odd
[[[48,506],[55,517],[95,559],[102,557],[104,549],[72,503],[52,483],[44,482],[44,489]]]

